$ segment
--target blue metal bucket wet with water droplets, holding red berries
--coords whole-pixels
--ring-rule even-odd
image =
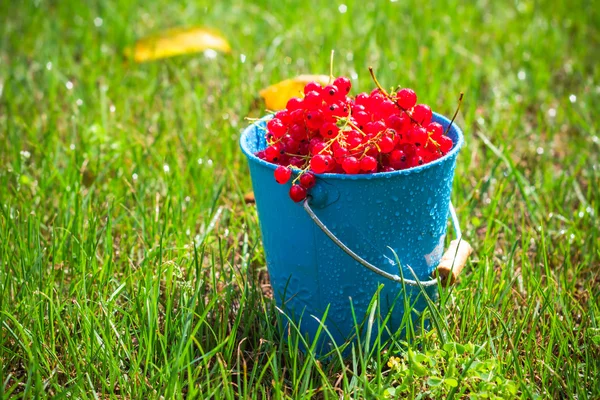
[[[435,113],[433,120],[444,129],[450,124]],[[427,306],[415,279],[437,299],[431,275],[444,253],[449,215],[458,228],[450,194],[462,131],[452,125],[452,150],[432,163],[378,174],[317,175],[309,199],[294,203],[288,196],[291,183],[279,185],[276,166],[255,156],[266,147],[266,121],[246,128],[240,145],[248,158],[278,306],[309,340],[320,324],[327,327],[331,336],[321,334],[319,355],[331,349],[332,341],[339,346],[356,333],[355,317],[362,320],[378,289],[380,315],[389,318],[387,329],[395,332],[404,317],[403,297],[414,300],[417,313]]]

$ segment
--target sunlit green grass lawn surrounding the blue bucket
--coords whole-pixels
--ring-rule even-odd
[[[344,3],[0,4],[0,398],[600,398],[600,7]],[[233,53],[122,56],[197,24]],[[237,139],[331,49],[355,90],[373,65],[446,115],[465,92],[475,254],[439,329],[321,363],[263,295]]]

